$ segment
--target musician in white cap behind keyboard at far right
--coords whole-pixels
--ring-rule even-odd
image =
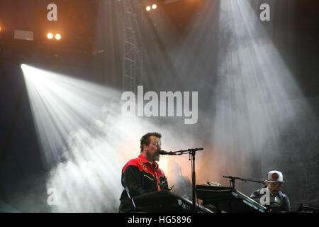
[[[281,192],[281,185],[284,183],[284,177],[281,172],[272,170],[268,172],[267,179],[264,181],[267,189],[269,190],[270,196],[277,196],[281,199],[281,206],[272,207],[272,212],[281,212],[281,211],[290,211],[290,201],[286,194]],[[258,189],[255,192],[252,192],[250,198],[256,199],[264,195],[264,192],[261,192],[262,189]]]

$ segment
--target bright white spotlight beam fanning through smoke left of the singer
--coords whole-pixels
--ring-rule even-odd
[[[60,206],[52,207],[52,211],[116,210],[121,193],[117,179],[121,179],[128,153],[111,150],[130,150],[127,142],[120,142],[122,138],[113,135],[114,128],[125,128],[123,119],[119,120],[121,115],[115,111],[120,109],[116,108],[118,101],[112,101],[120,93],[30,65],[21,64],[21,68],[44,163],[55,164],[47,189],[57,189]],[[107,120],[100,113],[106,114]],[[129,122],[133,126],[131,119],[125,125]],[[142,124],[135,126],[140,128],[134,131],[142,135]],[[121,135],[128,138],[125,133]],[[118,147],[119,144],[125,147]],[[113,162],[118,164],[112,165]],[[88,200],[82,191],[84,185],[91,194]]]

